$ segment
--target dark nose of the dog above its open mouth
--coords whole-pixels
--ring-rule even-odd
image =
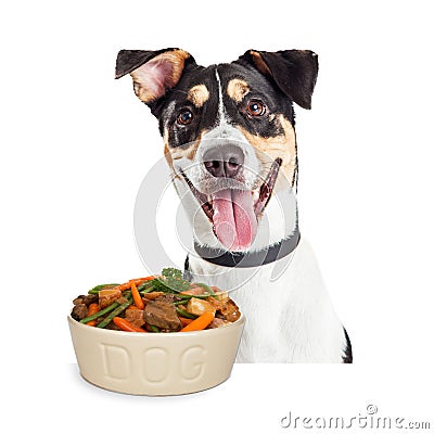
[[[208,150],[203,156],[206,170],[216,178],[234,178],[244,164],[239,146],[224,145]]]

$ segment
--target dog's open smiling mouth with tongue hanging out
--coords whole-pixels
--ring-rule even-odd
[[[214,234],[228,251],[246,250],[254,241],[258,219],[276,184],[281,158],[276,158],[261,186],[254,190],[226,188],[209,195],[199,191],[189,177],[181,175],[213,225]]]

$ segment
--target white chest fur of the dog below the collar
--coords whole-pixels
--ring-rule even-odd
[[[220,267],[190,257],[193,279],[231,290],[246,318],[239,362],[342,362],[344,329],[336,317],[312,250],[302,238],[290,265]],[[280,259],[285,260],[285,259]]]

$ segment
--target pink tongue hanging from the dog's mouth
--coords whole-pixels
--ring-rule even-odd
[[[212,197],[214,231],[220,243],[228,251],[247,248],[257,231],[252,192],[227,189]]]

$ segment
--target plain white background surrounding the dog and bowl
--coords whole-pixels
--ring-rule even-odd
[[[434,426],[429,1],[77,0],[1,9],[9,432],[271,433],[282,432],[290,410],[353,417],[368,404]],[[71,301],[144,272],[132,210],[163,151],[129,77],[114,80],[116,54],[166,47],[203,65],[251,48],[318,53],[312,110],[296,108],[301,228],[350,334],[353,366],[238,365],[224,385],[174,398],[108,393],[79,376]],[[179,256],[175,241],[166,247]]]

